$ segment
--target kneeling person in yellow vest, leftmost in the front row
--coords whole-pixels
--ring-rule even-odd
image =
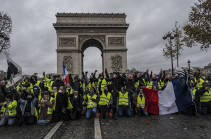
[[[4,126],[6,124],[14,125],[17,114],[17,101],[12,100],[11,93],[7,94],[6,101],[4,103],[0,103],[0,106],[2,106],[1,113],[3,114],[3,117],[0,121],[0,126]]]

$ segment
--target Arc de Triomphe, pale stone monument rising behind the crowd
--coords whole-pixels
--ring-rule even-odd
[[[109,73],[127,70],[126,32],[129,24],[124,13],[57,13],[56,18],[53,26],[57,33],[58,74],[63,74],[64,63],[69,73],[80,76],[83,53],[91,46],[102,52],[102,71],[105,68]]]

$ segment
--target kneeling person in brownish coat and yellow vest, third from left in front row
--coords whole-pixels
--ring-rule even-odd
[[[54,98],[50,97],[50,92],[45,91],[44,97],[39,101],[40,113],[38,117],[38,125],[46,125],[52,119]]]

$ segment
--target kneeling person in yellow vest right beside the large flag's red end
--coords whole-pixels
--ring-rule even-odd
[[[133,104],[136,106],[138,115],[148,115],[148,113],[144,110],[145,97],[142,89],[139,89],[139,94],[133,98]]]

